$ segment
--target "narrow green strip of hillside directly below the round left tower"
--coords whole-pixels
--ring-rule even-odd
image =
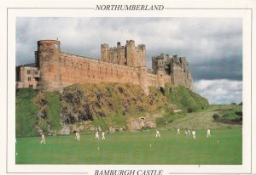
[[[49,126],[52,130],[61,129],[60,114],[61,114],[61,97],[60,93],[47,93],[47,107],[46,114]]]

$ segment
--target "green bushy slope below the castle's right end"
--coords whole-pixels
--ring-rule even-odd
[[[179,109],[188,112],[203,110],[209,106],[209,102],[206,98],[182,86],[172,87],[166,84],[165,94],[172,104],[176,104]]]

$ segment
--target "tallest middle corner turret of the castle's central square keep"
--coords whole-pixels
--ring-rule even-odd
[[[133,40],[126,41],[126,59],[127,65],[137,67],[136,48]]]

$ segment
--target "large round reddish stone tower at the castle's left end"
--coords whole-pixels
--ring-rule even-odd
[[[56,40],[38,41],[37,65],[40,71],[38,87],[42,90],[61,90],[61,42]]]

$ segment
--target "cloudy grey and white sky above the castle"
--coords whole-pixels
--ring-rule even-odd
[[[102,43],[146,44],[147,65],[161,53],[187,57],[195,92],[211,104],[242,99],[242,20],[233,18],[17,18],[16,65],[34,62],[37,41],[100,58]]]

